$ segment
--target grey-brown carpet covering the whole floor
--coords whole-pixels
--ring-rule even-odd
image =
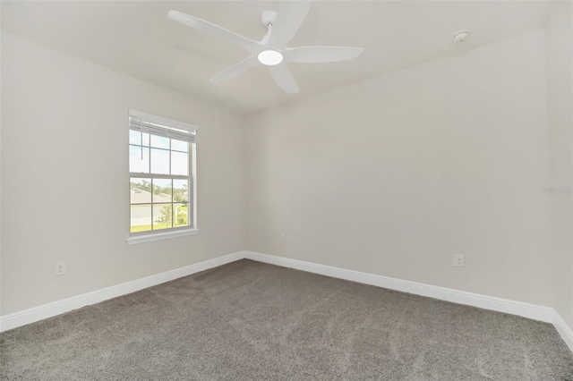
[[[240,260],[0,334],[2,380],[573,380],[554,327]]]

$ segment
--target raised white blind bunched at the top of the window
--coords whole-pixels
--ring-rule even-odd
[[[195,141],[195,131],[197,127],[192,124],[180,123],[166,118],[144,114],[130,110],[129,128],[141,133],[162,136],[176,140],[188,142]]]

